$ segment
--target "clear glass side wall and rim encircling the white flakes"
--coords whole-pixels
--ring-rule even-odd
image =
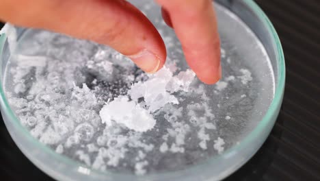
[[[10,58],[10,46],[6,34],[1,34],[1,113],[16,145],[37,167],[57,180],[221,180],[230,175],[254,155],[271,131],[282,102],[285,67],[282,47],[276,31],[254,1],[217,1],[217,4],[217,6],[235,14],[254,32],[265,48],[267,56],[269,56],[270,67],[274,73],[274,96],[271,103],[268,104],[269,107],[263,114],[261,121],[258,121],[254,128],[239,140],[238,144],[228,147],[222,154],[211,156],[191,167],[175,171],[150,173],[145,176],[97,171],[66,156],[57,154],[53,149],[32,137],[29,131],[21,125],[21,121],[16,117],[14,110],[10,108],[8,97],[6,97],[3,88],[5,67]],[[26,29],[17,29],[18,38],[25,31]]]

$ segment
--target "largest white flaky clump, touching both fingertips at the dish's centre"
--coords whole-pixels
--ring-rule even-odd
[[[171,66],[171,69],[174,67]],[[137,132],[151,130],[156,120],[150,113],[163,108],[165,104],[178,104],[178,99],[170,93],[187,91],[194,76],[195,73],[190,70],[172,76],[170,69],[163,67],[154,75],[150,75],[146,82],[137,82],[131,86],[129,95],[133,101],[129,101],[126,96],[120,96],[103,106],[100,111],[101,120],[108,126],[114,122],[120,123]],[[144,98],[148,110],[138,104],[141,97]]]

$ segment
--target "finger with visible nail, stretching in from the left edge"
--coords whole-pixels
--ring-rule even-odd
[[[146,72],[159,70],[166,58],[157,29],[124,0],[0,0],[0,19],[25,27],[49,29],[109,45]]]

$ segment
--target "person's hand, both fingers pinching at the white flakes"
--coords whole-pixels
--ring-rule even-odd
[[[150,0],[152,1],[152,0]],[[211,0],[157,0],[198,78],[221,77],[220,43]],[[150,21],[125,0],[0,0],[0,20],[109,45],[148,73],[165,63],[165,45]]]

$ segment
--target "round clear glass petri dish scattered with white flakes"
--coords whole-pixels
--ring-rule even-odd
[[[172,90],[170,93],[171,98],[176,99],[167,97],[170,104],[162,105],[152,96],[149,97],[152,104],[148,104],[149,98],[137,99],[146,102],[142,107],[147,106],[156,117],[151,130],[134,132],[122,129],[121,124],[120,128],[116,125],[107,129],[98,113],[105,104],[132,91],[132,83],[145,83],[152,79],[159,82],[167,77],[148,77],[108,47],[9,25],[0,37],[1,113],[5,125],[21,151],[42,171],[58,180],[225,178],[261,147],[278,115],[285,67],[274,27],[253,1],[216,1],[224,73],[218,84],[205,86],[196,77],[187,76],[192,74],[188,74],[174,32],[161,21],[159,7],[150,1],[133,3],[163,36],[168,50],[167,68],[164,69],[167,72],[164,74],[171,72],[168,78],[176,80],[182,71],[184,74],[180,80],[186,80],[178,92]],[[16,45],[10,40],[14,35]],[[12,47],[16,47],[14,53],[10,53],[10,49],[14,49]],[[101,60],[111,62],[111,68]],[[187,80],[192,82],[186,83]],[[42,82],[37,84],[35,81]],[[59,95],[44,91],[49,88]],[[80,108],[72,107],[72,94],[83,98],[89,94],[88,91],[92,93],[93,88],[98,89],[93,95],[102,102],[96,105],[98,108],[90,107],[92,99],[88,97],[84,100],[86,105],[82,102]],[[37,92],[40,89],[43,91]],[[53,101],[55,99],[59,101]],[[179,104],[174,104],[176,100]],[[156,103],[160,106],[152,108]],[[38,111],[36,115],[34,110],[25,109],[37,105],[56,112]],[[88,105],[90,108],[86,107]],[[75,114],[62,117],[57,111],[65,107],[70,108],[70,114]],[[62,112],[66,113],[66,110]],[[88,119],[91,120],[89,125]],[[38,130],[35,130],[37,125]],[[125,132],[108,134],[107,141],[103,141],[104,132],[113,132],[116,128]],[[44,131],[39,131],[41,129]],[[57,130],[64,133],[64,138],[55,137],[57,135],[53,132]],[[74,133],[80,134],[79,143]],[[112,137],[114,135],[117,137]],[[121,140],[125,140],[126,145],[115,146]],[[124,147],[130,150],[122,149]],[[108,152],[109,157],[105,156],[108,154],[103,152],[110,149],[113,152]],[[103,157],[102,162],[99,162],[99,156]]]

